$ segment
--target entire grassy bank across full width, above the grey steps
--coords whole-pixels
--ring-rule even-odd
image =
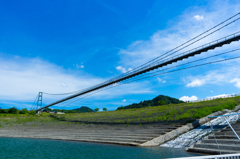
[[[240,104],[240,97],[215,99],[197,103],[169,104],[164,106],[124,109],[109,112],[69,113],[51,116],[30,114],[0,114],[0,128],[11,126],[60,126],[81,123],[148,123],[193,121],[223,109],[234,109]],[[76,122],[62,122],[76,121]]]

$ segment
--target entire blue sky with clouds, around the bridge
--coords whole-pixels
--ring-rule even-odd
[[[238,0],[0,2],[0,105],[19,109],[30,108],[40,91],[72,92],[124,73],[240,10]],[[239,31],[238,24],[194,46]],[[232,43],[188,60],[238,47]],[[202,99],[240,93],[239,66],[234,60],[152,77],[54,108],[114,110],[157,95]],[[63,97],[44,95],[43,103]]]

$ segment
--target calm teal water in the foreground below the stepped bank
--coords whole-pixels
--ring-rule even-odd
[[[161,147],[129,147],[26,138],[0,138],[0,158],[24,159],[158,159],[197,156],[181,149]]]

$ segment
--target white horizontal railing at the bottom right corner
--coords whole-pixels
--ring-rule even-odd
[[[211,156],[197,156],[197,157],[180,157],[180,158],[169,158],[169,159],[240,159],[240,153],[238,154],[227,154],[227,155],[211,155]]]

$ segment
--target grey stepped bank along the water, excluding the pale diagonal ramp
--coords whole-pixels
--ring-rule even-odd
[[[139,146],[161,134],[172,131],[181,125],[148,124],[148,125],[96,125],[84,124],[75,126],[19,126],[0,128],[2,137],[25,137],[57,140],[74,140]]]

